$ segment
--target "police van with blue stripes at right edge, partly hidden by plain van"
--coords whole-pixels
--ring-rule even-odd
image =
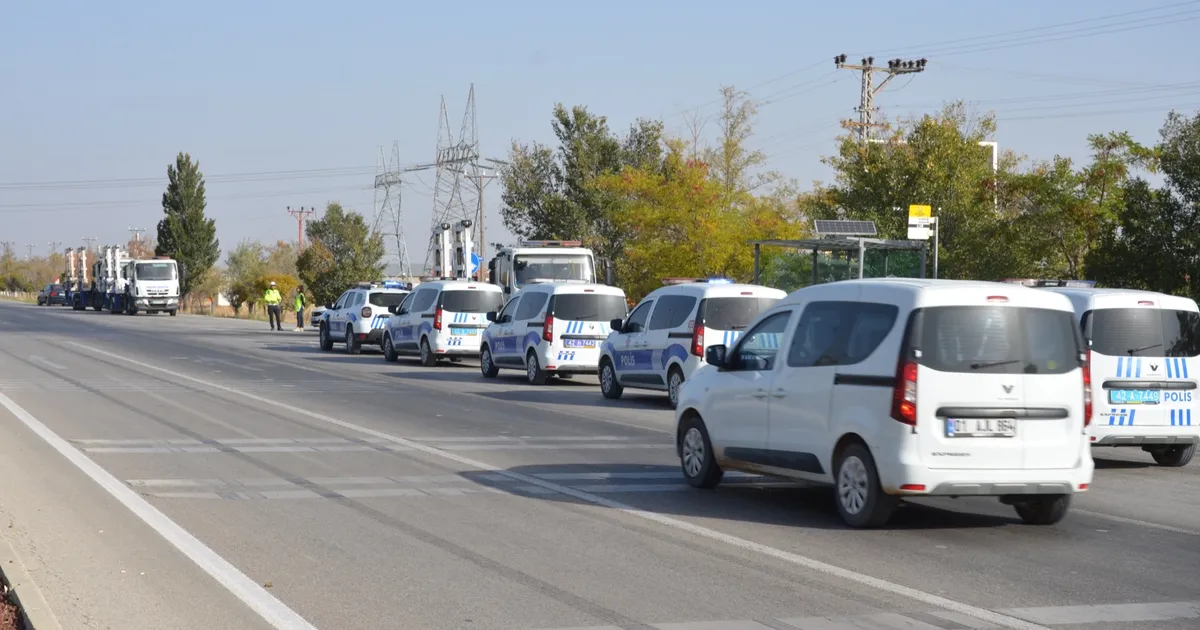
[[[1140,446],[1186,466],[1200,442],[1200,308],[1132,289],[1049,288],[1066,295],[1087,342],[1097,397],[1094,446]]]

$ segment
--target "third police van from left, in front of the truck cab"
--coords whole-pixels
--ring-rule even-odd
[[[612,322],[625,318],[625,292],[588,282],[533,282],[499,312],[487,313],[479,368],[494,378],[502,368],[523,370],[530,384],[551,376],[595,373],[600,344]]]

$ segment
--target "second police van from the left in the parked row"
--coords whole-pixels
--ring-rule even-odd
[[[443,358],[478,356],[487,328],[484,314],[502,304],[504,293],[496,284],[466,278],[422,282],[392,308],[384,325],[384,359],[416,355],[432,367]]]

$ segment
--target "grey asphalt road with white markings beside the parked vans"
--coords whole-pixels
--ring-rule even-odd
[[[857,532],[828,490],[688,488],[661,396],[16,304],[0,403],[0,538],[64,628],[1200,626],[1200,464],[1140,451],[1055,527]]]

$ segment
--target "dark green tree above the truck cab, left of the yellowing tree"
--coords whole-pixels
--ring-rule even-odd
[[[558,148],[514,143],[500,169],[504,226],[522,239],[578,239],[601,257],[620,251],[617,200],[596,186],[624,166],[661,163],[662,124],[638,120],[624,138],[584,107],[558,104],[551,122]]]

